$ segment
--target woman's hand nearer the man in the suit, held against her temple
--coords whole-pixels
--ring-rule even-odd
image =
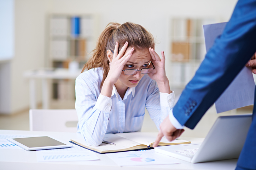
[[[149,73],[149,77],[152,78],[157,82],[158,88],[160,92],[163,93],[171,93],[170,86],[169,86],[169,80],[165,74],[165,57],[164,57],[164,52],[162,51],[162,59],[158,56],[156,51],[152,49],[151,47],[149,48],[149,53],[151,55],[151,62],[154,64],[155,69]]]

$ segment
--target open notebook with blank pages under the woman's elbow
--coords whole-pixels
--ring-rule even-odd
[[[152,149],[154,141],[157,137],[157,132],[130,132],[130,133],[116,133],[105,134],[104,140],[112,142],[116,145],[109,145],[102,143],[99,146],[87,145],[82,138],[71,139],[70,142],[86,149],[98,152],[98,153],[112,153],[123,151],[134,151],[143,149]],[[190,141],[186,140],[174,140],[168,141],[166,138],[162,138],[157,146],[178,145],[178,144],[190,144]]]

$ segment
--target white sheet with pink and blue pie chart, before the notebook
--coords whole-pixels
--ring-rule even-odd
[[[178,159],[151,150],[106,153],[119,166],[179,164]]]

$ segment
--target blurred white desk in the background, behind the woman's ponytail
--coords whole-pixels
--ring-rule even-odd
[[[64,68],[45,68],[25,71],[23,76],[29,78],[29,106],[30,109],[36,109],[36,85],[35,79],[42,80],[42,108],[49,108],[49,88],[47,80],[49,79],[73,79],[81,73],[81,70],[69,71]]]

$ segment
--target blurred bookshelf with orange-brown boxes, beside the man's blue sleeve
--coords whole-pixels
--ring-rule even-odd
[[[170,29],[171,89],[182,90],[196,73],[206,50],[203,25],[217,18],[172,18]]]

